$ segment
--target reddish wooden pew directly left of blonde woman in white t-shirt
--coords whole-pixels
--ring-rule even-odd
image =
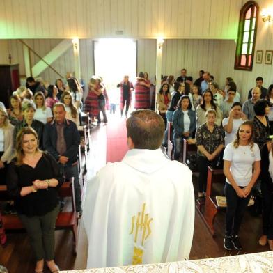
[[[221,193],[218,195],[223,196],[224,183],[226,182],[226,176],[222,169],[212,169],[211,166],[208,166],[208,177],[207,177],[207,192],[205,196],[205,208],[204,212],[201,212],[201,209],[198,212],[201,215],[201,218],[205,222],[205,226],[207,226],[210,231],[212,237],[215,236],[214,231],[214,219],[219,211],[220,207],[217,205],[216,194],[212,189],[216,184],[221,183]]]

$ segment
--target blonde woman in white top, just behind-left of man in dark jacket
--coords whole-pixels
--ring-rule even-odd
[[[52,120],[52,109],[45,106],[45,95],[42,92],[37,92],[34,95],[34,102],[36,104],[36,112],[34,119],[42,123],[49,123]]]

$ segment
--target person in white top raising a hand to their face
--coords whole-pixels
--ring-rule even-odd
[[[225,147],[235,139],[238,128],[244,120],[247,120],[247,116],[242,112],[242,104],[234,102],[228,118],[224,118],[222,121],[225,130]]]

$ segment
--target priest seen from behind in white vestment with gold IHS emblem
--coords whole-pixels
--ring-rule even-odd
[[[87,268],[187,260],[194,233],[192,171],[160,146],[164,120],[140,109],[127,119],[130,150],[86,182]]]

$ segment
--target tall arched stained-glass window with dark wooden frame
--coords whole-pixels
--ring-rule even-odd
[[[235,69],[252,70],[259,6],[248,1],[240,10]]]

